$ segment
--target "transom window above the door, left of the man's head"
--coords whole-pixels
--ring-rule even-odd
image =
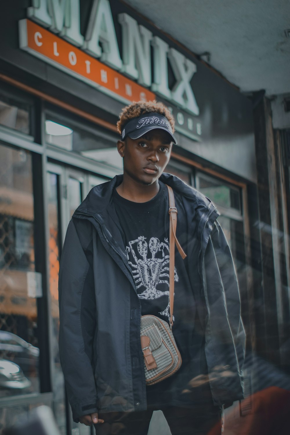
[[[45,142],[63,151],[73,152],[123,172],[123,162],[117,152],[119,135],[84,120],[46,112]]]

